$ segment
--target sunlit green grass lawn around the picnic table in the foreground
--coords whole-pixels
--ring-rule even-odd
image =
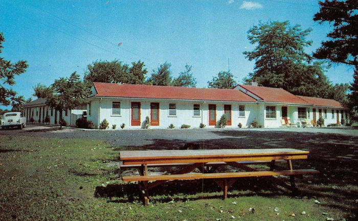
[[[89,139],[0,140],[0,220],[353,220],[358,205],[356,177],[330,177],[322,169],[334,166],[311,160],[300,166],[322,173],[297,180],[299,197],[252,178],[223,201],[211,181],[181,181],[159,187],[144,207],[136,185],[120,179],[120,148]],[[349,164],[345,170],[356,174]]]

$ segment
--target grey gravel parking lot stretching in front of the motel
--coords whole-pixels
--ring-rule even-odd
[[[358,145],[358,130],[330,128],[280,129],[168,129],[168,130],[58,130],[28,125],[23,130],[2,130],[0,134],[104,140],[110,145],[134,149],[178,149],[187,142],[200,148],[302,148],[322,143]]]

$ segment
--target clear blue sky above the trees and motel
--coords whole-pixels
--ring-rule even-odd
[[[27,71],[13,89],[26,99],[37,83],[50,85],[74,71],[83,76],[96,60],[145,62],[148,72],[168,61],[173,77],[192,65],[197,87],[219,71],[230,70],[241,83],[254,62],[242,52],[254,48],[247,39],[259,21],[285,21],[312,28],[311,53],[325,40],[329,24],[312,17],[319,11],[312,0],[224,1],[0,1],[0,32],[5,35],[7,60],[27,60]],[[120,46],[117,46],[121,43]],[[349,83],[353,69],[333,65],[326,75],[333,83]]]

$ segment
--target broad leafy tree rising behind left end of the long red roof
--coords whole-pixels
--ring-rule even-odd
[[[87,66],[85,82],[124,83],[130,82],[128,65],[119,60],[95,61]]]

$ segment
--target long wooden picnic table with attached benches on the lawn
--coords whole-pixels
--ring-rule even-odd
[[[137,168],[139,176],[123,176],[123,181],[138,181],[143,201],[149,204],[149,189],[171,180],[213,179],[227,198],[228,188],[241,177],[290,177],[288,188],[295,190],[295,175],[317,174],[315,169],[294,169],[292,160],[307,159],[309,152],[297,149],[218,149],[218,150],[164,150],[121,151],[121,169]],[[287,163],[287,169],[277,167],[276,162]],[[256,170],[248,164],[270,164],[270,170]],[[222,165],[238,168],[236,172],[215,170]],[[180,167],[169,175],[149,175],[148,167]],[[202,173],[191,173],[199,168]],[[148,182],[152,181],[152,182]]]

